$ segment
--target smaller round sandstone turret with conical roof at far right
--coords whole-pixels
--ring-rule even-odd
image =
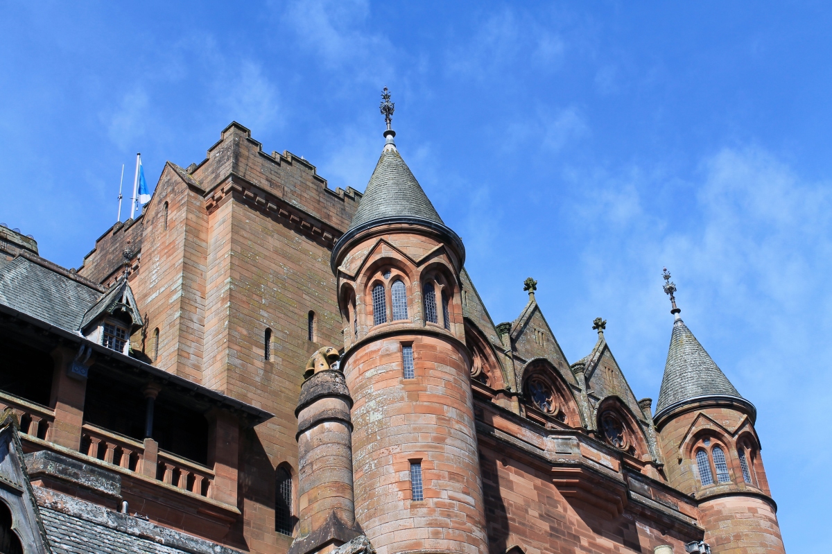
[[[784,554],[754,428],[756,408],[682,321],[676,286],[665,275],[675,321],[653,421],[668,481],[699,502],[713,552]]]

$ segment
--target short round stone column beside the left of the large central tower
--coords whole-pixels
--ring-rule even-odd
[[[300,388],[300,531],[290,554],[329,552],[361,534],[353,497],[352,405],[339,370],[314,373]]]

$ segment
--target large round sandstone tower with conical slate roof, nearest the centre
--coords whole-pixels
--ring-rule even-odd
[[[399,155],[389,117],[384,136],[332,254],[354,400],[355,517],[379,554],[487,552],[460,303],[465,250]]]

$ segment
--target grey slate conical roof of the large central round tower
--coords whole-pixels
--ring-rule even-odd
[[[385,148],[349,229],[388,217],[418,217],[444,225],[399,151]]]

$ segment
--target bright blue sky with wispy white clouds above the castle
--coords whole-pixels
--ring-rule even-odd
[[[3,2],[0,221],[81,264],[148,182],[230,121],[364,190],[404,159],[495,323],[537,299],[570,361],[592,319],[657,398],[682,317],[757,429],[790,552],[832,495],[827,2]]]

